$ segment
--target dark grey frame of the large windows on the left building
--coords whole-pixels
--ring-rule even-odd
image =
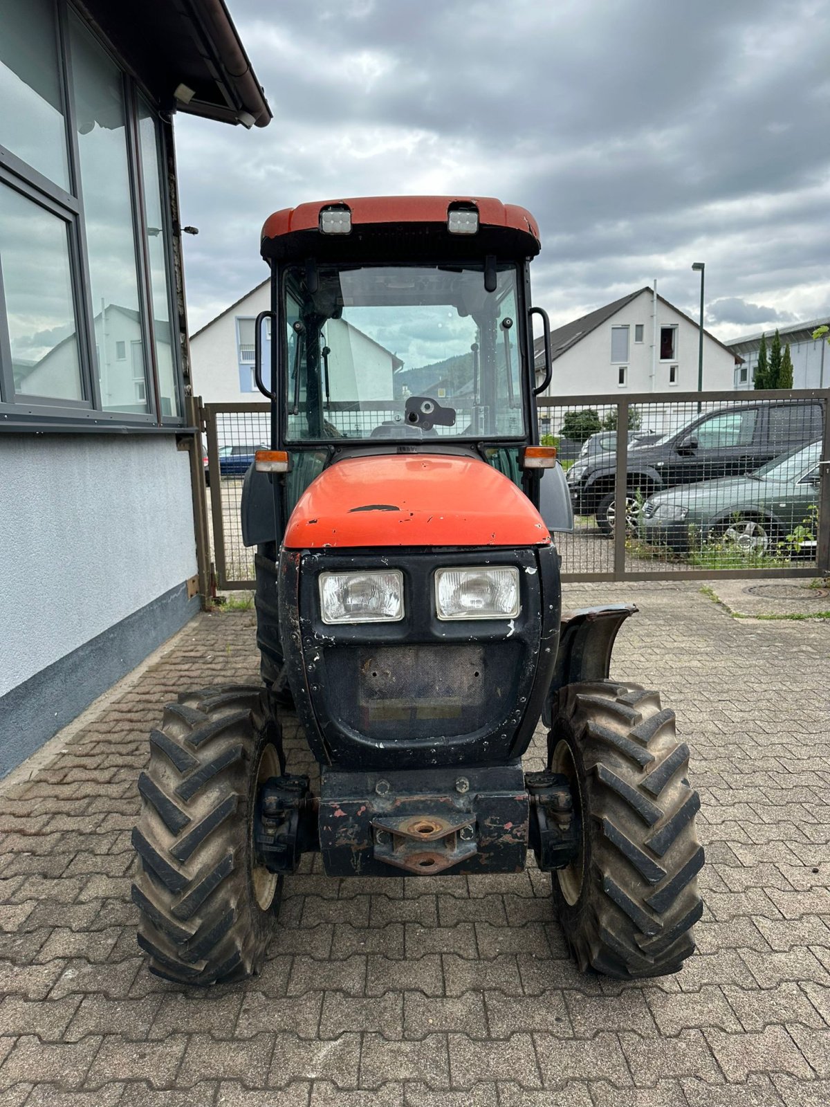
[[[58,80],[63,107],[69,158],[69,179],[72,193],[55,185],[20,157],[0,147],[0,187],[10,187],[27,199],[59,218],[66,227],[68,252],[72,282],[72,301],[75,315],[79,370],[83,400],[64,400],[58,396],[30,396],[14,387],[11,362],[11,343],[0,258],[0,431],[54,428],[66,432],[102,431],[107,427],[132,431],[175,432],[186,425],[185,382],[179,334],[179,297],[176,287],[176,251],[174,239],[173,205],[169,193],[170,128],[158,120],[158,102],[135,77],[125,72],[117,51],[102,38],[98,30],[84,19],[83,12],[69,0],[53,0],[58,44]],[[136,244],[137,283],[141,315],[141,337],[146,352],[144,386],[147,412],[105,411],[101,406],[101,389],[95,355],[94,309],[90,283],[86,249],[86,224],[83,204],[83,183],[77,143],[75,104],[72,84],[72,49],[70,18],[74,17],[92,35],[117,66],[124,92],[125,143],[129,178],[132,230]],[[170,346],[173,351],[174,384],[179,415],[162,415],[159,403],[158,366],[152,320],[149,265],[147,257],[146,219],[143,204],[142,158],[138,143],[137,96],[143,95],[153,111],[155,138],[162,177],[162,218],[166,251],[166,293],[170,317]],[[134,379],[136,380],[136,379]]]

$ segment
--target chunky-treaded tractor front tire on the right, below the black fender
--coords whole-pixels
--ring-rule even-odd
[[[703,913],[695,831],[701,801],[674,712],[637,684],[566,685],[548,738],[582,825],[581,848],[552,873],[553,899],[581,971],[623,980],[677,972]]]

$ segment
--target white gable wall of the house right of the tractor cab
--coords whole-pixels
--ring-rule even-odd
[[[661,327],[677,327],[675,356],[665,361],[657,350],[657,371],[652,381],[653,298],[642,292],[616,314],[575,342],[553,362],[553,376],[546,395],[605,395],[629,392],[693,392],[697,389],[697,354],[699,331],[671,304],[657,300],[657,343]],[[635,327],[643,327],[643,341],[637,343]],[[627,324],[629,359],[611,360],[611,330]],[[621,365],[626,369],[625,384],[619,383]],[[675,383],[670,383],[670,366],[676,365]],[[735,358],[708,334],[704,337],[703,386],[705,390],[734,387]]]

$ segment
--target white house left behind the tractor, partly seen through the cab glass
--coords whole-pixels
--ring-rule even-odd
[[[194,391],[205,403],[263,402],[264,396],[253,381],[253,324],[259,312],[270,308],[270,302],[269,281],[264,280],[190,335]],[[392,400],[393,373],[403,364],[400,358],[342,319],[330,319],[323,333],[330,350],[333,402],[354,396]],[[264,366],[269,363],[268,342],[263,335]],[[267,369],[262,375],[268,385]]]

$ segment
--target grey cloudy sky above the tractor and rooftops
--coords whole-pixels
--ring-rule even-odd
[[[273,112],[178,115],[190,329],[309,199],[498,196],[554,324],[656,278],[722,339],[830,312],[829,0],[228,0]]]

